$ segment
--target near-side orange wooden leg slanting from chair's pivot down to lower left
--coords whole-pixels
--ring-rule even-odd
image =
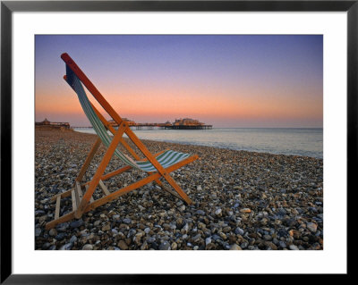
[[[115,133],[115,137],[112,139],[111,144],[107,148],[106,154],[103,156],[101,163],[99,163],[98,169],[93,176],[92,180],[90,181],[89,188],[87,189],[86,193],[83,195],[80,204],[77,207],[77,211],[74,214],[76,219],[80,219],[86,206],[90,202],[90,197],[92,197],[93,192],[98,186],[99,180],[101,179],[103,173],[106,170],[107,164],[112,158],[112,155],[115,153],[115,148],[117,147],[120,139],[124,134],[124,130],[127,128],[127,124],[125,122],[121,123],[117,132]]]

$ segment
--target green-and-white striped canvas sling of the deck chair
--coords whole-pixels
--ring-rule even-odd
[[[76,74],[66,65],[67,82],[76,92],[79,97],[83,112],[89,119],[93,129],[96,131],[98,137],[102,140],[106,147],[111,144],[112,138],[108,134],[106,127],[99,120],[98,115],[90,105],[90,100],[86,95],[84,88],[82,87],[81,80],[78,79]],[[131,157],[128,157],[122,153],[119,149],[115,149],[115,156],[117,156],[125,164],[132,166],[133,168],[139,169],[143,172],[157,172],[157,169],[149,161],[135,161]],[[167,168],[175,163],[181,162],[183,159],[191,155],[183,154],[173,150],[166,150],[164,153],[157,156],[158,163],[164,168]]]

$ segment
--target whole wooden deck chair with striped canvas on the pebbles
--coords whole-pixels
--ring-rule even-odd
[[[64,60],[66,67],[64,80],[77,94],[83,112],[86,114],[93,129],[96,131],[98,138],[93,147],[90,149],[90,153],[83,163],[77,178],[75,179],[73,189],[52,197],[51,200],[56,202],[55,219],[51,222],[47,222],[46,229],[49,230],[54,228],[59,223],[67,222],[74,218],[80,219],[82,214],[87,213],[100,205],[104,205],[134,189],[138,189],[152,181],[155,181],[161,189],[166,190],[175,197],[183,199],[183,201],[187,204],[192,204],[192,200],[185,194],[185,192],[183,192],[183,189],[180,188],[169,173],[174,172],[183,165],[198,159],[198,155],[188,155],[173,150],[164,150],[155,155],[151,154],[148,148],[145,147],[141,140],[132,132],[128,122],[125,122],[115,112],[113,107],[108,104],[107,100],[99,93],[98,89],[95,88],[78,65],[73,62],[72,58],[68,54],[62,54],[61,58]],[[103,109],[112,117],[116,124],[118,124],[118,128],[116,130],[105,119],[105,117],[98,112],[98,109],[90,103],[82,84],[90,91],[91,95],[95,97],[99,105],[101,105]],[[111,132],[113,136],[110,136],[108,131]],[[141,159],[132,147],[126,143],[123,138],[124,134],[126,134],[128,138],[132,140],[132,143],[141,150],[142,155],[144,155],[143,159]],[[91,180],[83,182],[82,179],[84,174],[90,166],[90,162],[101,144],[107,147],[107,151]],[[119,144],[122,144],[132,157],[121,152],[117,148]],[[125,164],[125,166],[114,172],[105,174],[104,172],[107,168],[107,164],[110,162],[113,155],[118,157]],[[104,180],[108,180],[115,175],[119,175],[132,169],[146,172],[148,175],[144,179],[138,180],[122,189],[116,189],[112,192],[107,189],[105,183],[103,182]],[[166,180],[174,190],[168,189],[161,180]],[[92,196],[98,187],[102,190],[104,195],[103,197],[95,200]],[[60,216],[60,205],[63,197],[72,197],[72,212]]]

